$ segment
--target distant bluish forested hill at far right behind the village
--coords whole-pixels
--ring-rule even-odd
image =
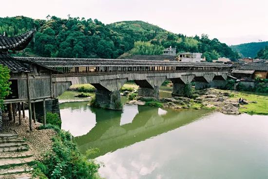
[[[230,47],[232,50],[241,54],[242,57],[255,58],[257,56],[257,53],[267,45],[268,41],[263,41],[231,45]]]

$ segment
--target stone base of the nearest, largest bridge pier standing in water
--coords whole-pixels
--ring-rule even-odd
[[[109,91],[107,89],[96,90],[96,106],[107,109],[122,109],[120,91]]]

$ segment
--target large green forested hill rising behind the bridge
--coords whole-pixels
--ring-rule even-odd
[[[145,49],[142,53],[159,54],[161,49],[172,46],[177,48],[177,52],[203,53],[207,60],[218,57],[232,60],[238,58],[238,53],[225,43],[217,39],[210,40],[207,35],[186,37],[143,21],[122,21],[105,25],[99,20],[71,17],[60,19],[48,16],[47,20],[22,16],[0,18],[0,34],[5,31],[9,37],[34,27],[37,28],[35,42],[31,42],[28,48],[17,55],[115,59],[125,52],[134,52],[134,42],[145,41],[146,43],[135,43],[142,46],[139,49]]]

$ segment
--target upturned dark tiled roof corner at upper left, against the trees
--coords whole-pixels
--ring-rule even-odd
[[[22,50],[34,37],[36,30],[30,30],[20,36],[5,37],[0,35],[0,51]]]

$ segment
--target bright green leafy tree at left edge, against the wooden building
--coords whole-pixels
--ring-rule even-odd
[[[3,99],[10,94],[10,87],[9,85],[11,82],[8,80],[10,79],[10,70],[0,64],[0,108],[3,108]]]

